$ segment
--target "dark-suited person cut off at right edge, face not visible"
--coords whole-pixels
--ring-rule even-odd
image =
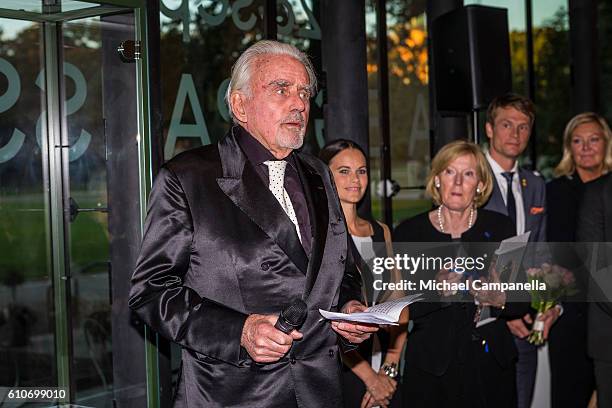
[[[592,242],[588,351],[593,358],[597,405],[612,407],[612,174],[585,184],[576,241]]]

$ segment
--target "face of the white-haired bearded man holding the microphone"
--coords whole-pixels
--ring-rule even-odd
[[[310,112],[304,65],[286,55],[265,55],[253,64],[250,95],[232,97],[234,116],[277,158],[304,142]]]

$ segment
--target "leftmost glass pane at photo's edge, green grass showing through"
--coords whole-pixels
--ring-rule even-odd
[[[56,384],[41,35],[0,19],[0,386]]]

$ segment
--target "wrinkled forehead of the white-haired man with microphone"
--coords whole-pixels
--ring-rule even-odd
[[[308,72],[297,59],[288,55],[262,55],[253,64],[251,81],[255,86],[285,84],[308,87]]]

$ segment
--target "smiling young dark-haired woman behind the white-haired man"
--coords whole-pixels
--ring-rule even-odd
[[[377,293],[372,287],[373,276],[368,262],[375,256],[390,256],[393,249],[389,227],[357,214],[357,204],[366,194],[368,187],[365,153],[355,142],[338,139],[323,147],[319,157],[330,167],[336,183],[352,238],[351,248],[364,281],[364,298],[371,305],[400,296],[399,292]],[[391,277],[387,276],[383,280],[389,279]],[[398,276],[393,279],[398,279]],[[400,393],[397,392],[397,374],[406,340],[407,310],[403,318],[403,327],[381,329],[357,350],[343,355],[342,384],[345,407],[402,406]]]

